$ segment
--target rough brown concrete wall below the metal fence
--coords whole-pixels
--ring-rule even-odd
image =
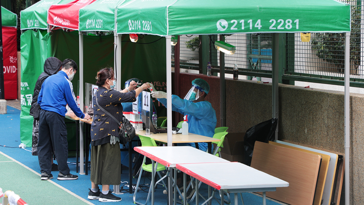
[[[206,100],[212,103],[216,111],[217,127],[219,127],[219,78],[181,73],[181,95],[185,95],[195,78],[206,80],[211,87]],[[344,92],[279,85],[279,101],[279,139],[345,153]],[[350,204],[352,205],[364,202],[363,108],[364,95],[350,94]],[[226,79],[226,126],[229,127],[229,132],[245,132],[251,126],[271,118],[271,84]],[[344,204],[344,185],[341,202]]]

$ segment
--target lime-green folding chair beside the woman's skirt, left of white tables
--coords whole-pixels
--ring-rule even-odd
[[[157,146],[157,144],[155,143],[153,138],[146,137],[146,136],[141,136],[141,135],[139,135],[139,138],[140,138],[140,141],[142,142],[142,147],[156,147]],[[142,170],[152,172],[152,169],[153,169],[152,164],[148,164],[148,165],[145,164],[146,159],[147,159],[147,157],[144,156],[143,164],[142,164],[142,166],[140,167],[140,170],[139,170],[139,177],[138,177],[138,181],[136,183],[134,195],[132,197],[132,200],[134,201],[134,204],[138,204],[138,205],[147,205],[147,203],[149,201],[150,193],[151,193],[151,188],[152,188],[151,187],[152,185],[150,184],[150,188],[149,188],[149,192],[148,192],[148,196],[147,196],[147,201],[146,201],[145,204],[142,204],[142,203],[136,201],[136,192],[138,191],[138,188],[139,188],[140,178],[141,178],[142,172],[143,172]],[[160,178],[160,180],[158,180],[155,183],[155,185],[162,182],[165,190],[167,190],[166,189],[167,186],[165,185],[165,182],[163,181],[163,179],[169,175],[169,171],[167,171],[167,174],[164,177],[162,177],[161,174],[159,173],[159,171],[166,170],[165,166],[163,166],[163,165],[161,165],[159,163],[155,163],[155,166],[156,166],[154,168],[155,172],[158,174],[158,176]]]

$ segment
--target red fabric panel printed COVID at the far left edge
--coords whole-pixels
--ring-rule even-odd
[[[17,28],[2,27],[5,100],[17,99]]]

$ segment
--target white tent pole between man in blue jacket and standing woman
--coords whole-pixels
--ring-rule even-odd
[[[83,110],[83,34],[82,32],[78,32],[79,34],[79,49],[80,49],[80,108]],[[86,159],[87,160],[87,159]],[[78,165],[76,165],[78,166]],[[87,168],[86,168],[87,169]],[[83,122],[80,120],[80,174],[84,174],[83,170]]]

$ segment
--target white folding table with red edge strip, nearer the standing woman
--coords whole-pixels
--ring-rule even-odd
[[[229,162],[226,159],[222,159],[212,154],[208,154],[199,149],[190,146],[164,146],[164,147],[134,147],[134,150],[140,154],[143,154],[151,159],[152,167],[154,167],[154,161],[158,162],[165,167],[176,168],[177,164],[185,164],[185,163],[206,163],[206,162]],[[230,163],[230,162],[229,162]],[[175,175],[177,174],[177,170],[174,169]],[[152,182],[154,184],[154,169],[152,171]],[[170,175],[171,177],[171,175]],[[154,205],[154,186],[151,186],[151,203]],[[186,193],[186,180],[183,177],[183,190]],[[169,197],[172,195],[171,188],[168,188]],[[177,185],[175,183],[174,186],[174,198],[177,196]],[[210,191],[209,191],[210,194]],[[186,194],[184,194],[183,203],[186,203]],[[174,200],[174,204],[176,204],[176,200]]]

